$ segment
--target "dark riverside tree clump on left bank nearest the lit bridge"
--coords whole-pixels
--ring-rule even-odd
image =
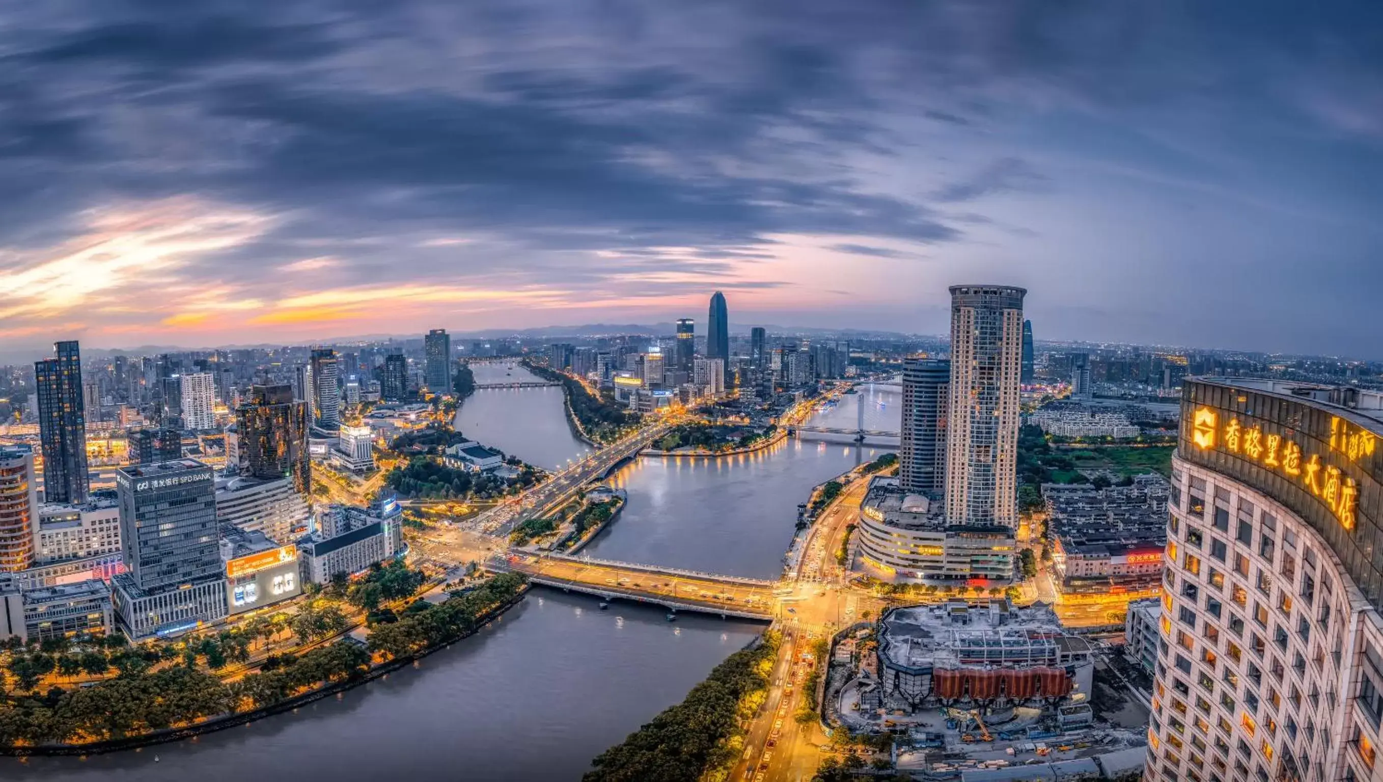
[[[369,633],[369,649],[387,657],[407,657],[440,644],[449,644],[472,633],[498,606],[512,601],[527,579],[503,573],[483,585],[452,592],[445,602],[409,606],[398,621],[376,624]]]

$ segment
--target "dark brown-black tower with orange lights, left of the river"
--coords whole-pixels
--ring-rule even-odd
[[[248,401],[235,415],[243,472],[263,480],[290,478],[300,494],[311,491],[307,404],[295,400],[286,385],[250,386]]]

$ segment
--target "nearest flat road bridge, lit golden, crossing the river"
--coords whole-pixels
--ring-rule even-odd
[[[610,562],[510,551],[494,561],[496,569],[524,573],[545,587],[660,605],[671,612],[694,610],[739,619],[772,621],[783,594],[779,581],[676,570],[631,562]]]

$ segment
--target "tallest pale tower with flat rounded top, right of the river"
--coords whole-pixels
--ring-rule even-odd
[[[946,518],[1018,523],[1018,379],[1023,296],[1005,285],[953,285]]]

